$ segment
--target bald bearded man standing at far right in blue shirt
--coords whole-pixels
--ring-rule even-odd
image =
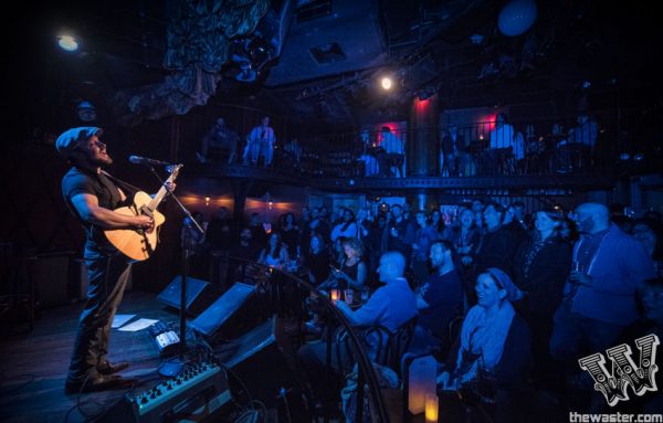
[[[639,318],[638,286],[655,275],[638,240],[610,223],[606,205],[580,204],[572,219],[580,240],[573,246],[566,296],[555,314],[550,339],[552,357],[569,362],[614,343]]]

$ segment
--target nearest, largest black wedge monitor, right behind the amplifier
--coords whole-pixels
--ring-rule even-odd
[[[275,317],[215,348],[214,353],[224,367],[232,370],[228,378],[233,398],[236,398],[235,393],[248,390],[253,399],[270,409],[283,402],[280,398],[282,388],[287,391],[296,387],[293,371],[276,342]]]

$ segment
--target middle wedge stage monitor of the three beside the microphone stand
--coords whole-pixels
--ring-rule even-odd
[[[251,285],[235,283],[219,299],[217,299],[208,309],[202,311],[189,326],[206,337],[213,337],[217,331],[227,326],[228,330],[221,334],[224,337],[231,337],[233,332],[240,330],[241,324],[249,322],[248,319],[241,319],[240,308],[246,307],[249,298],[255,293]],[[240,322],[239,320],[244,320]],[[236,325],[231,325],[233,321]]]

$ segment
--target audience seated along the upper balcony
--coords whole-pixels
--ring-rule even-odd
[[[606,157],[598,157],[601,155],[598,145],[600,133],[599,124],[586,109],[579,110],[576,121],[567,127],[559,121],[513,125],[504,113],[498,114],[494,121],[464,126],[452,124],[440,128],[435,135],[440,176],[588,171],[598,159],[607,160]],[[361,130],[356,145],[346,146],[351,159],[345,166],[354,169],[349,173],[345,169],[343,175],[403,178],[407,166],[406,135],[406,131],[393,130],[389,126],[376,131]],[[223,118],[218,118],[202,138],[197,156],[201,162],[224,161],[248,166],[260,162],[266,167],[277,163],[280,168],[299,171],[312,168],[315,169],[314,173],[320,171],[320,163],[325,160],[313,151],[307,152],[295,138],[277,144],[267,116],[243,140]],[[317,160],[317,166],[307,165],[306,160],[309,159]],[[617,158],[613,159],[617,161]],[[338,167],[335,169],[339,171]]]

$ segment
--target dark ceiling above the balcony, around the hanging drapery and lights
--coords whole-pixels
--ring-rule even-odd
[[[65,1],[30,11],[32,47],[21,71],[34,92],[28,97],[66,106],[117,93],[152,95],[173,74],[164,65],[168,24],[185,3],[219,13],[256,1]],[[228,39],[228,60],[196,106],[232,103],[357,126],[402,117],[414,96],[432,93],[453,108],[568,99],[585,81],[597,93],[621,92],[624,103],[657,92],[651,87],[661,30],[643,3],[538,0],[534,25],[505,36],[497,17],[506,3],[273,1],[255,29]],[[78,53],[55,47],[65,27],[81,36]],[[241,81],[253,78],[248,65],[259,71],[255,81]],[[397,82],[391,94],[376,84],[386,73]]]

